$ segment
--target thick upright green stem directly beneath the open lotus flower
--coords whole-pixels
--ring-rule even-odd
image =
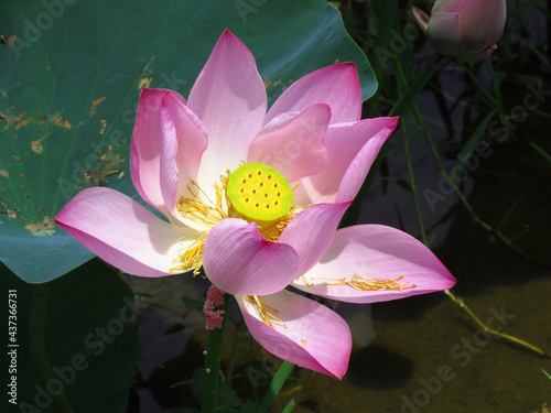
[[[224,296],[220,309],[227,312],[229,295]],[[226,315],[220,328],[215,328],[208,334],[207,354],[205,356],[205,372],[203,378],[202,413],[214,413],[218,404],[218,381],[220,376],[220,356],[224,344]]]

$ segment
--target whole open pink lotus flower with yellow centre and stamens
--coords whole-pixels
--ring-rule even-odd
[[[75,196],[56,221],[130,274],[197,274],[203,268],[214,285],[235,295],[266,349],[342,378],[352,348],[346,322],[288,285],[372,303],[450,289],[455,280],[397,229],[337,230],[397,124],[396,118],[360,120],[353,63],[304,76],[266,111],[255,59],[226,31],[187,101],[163,89],[140,95],[132,181],[166,220],[121,193],[94,187]]]

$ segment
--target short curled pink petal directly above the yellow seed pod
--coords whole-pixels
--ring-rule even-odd
[[[329,107],[323,104],[282,122],[276,118],[251,142],[247,162],[270,165],[289,182],[322,172],[327,163],[322,139],[329,118]]]

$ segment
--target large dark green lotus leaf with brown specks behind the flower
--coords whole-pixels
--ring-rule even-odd
[[[255,54],[270,102],[335,62],[356,62],[365,99],[376,88],[325,0],[11,0],[0,26],[0,260],[32,283],[91,257],[53,221],[78,191],[137,196],[128,152],[139,89],[187,96],[225,29]]]

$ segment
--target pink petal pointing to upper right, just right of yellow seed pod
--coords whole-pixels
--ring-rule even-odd
[[[328,166],[301,181],[296,202],[317,204],[354,199],[397,124],[398,118],[375,118],[331,126],[324,139]]]

